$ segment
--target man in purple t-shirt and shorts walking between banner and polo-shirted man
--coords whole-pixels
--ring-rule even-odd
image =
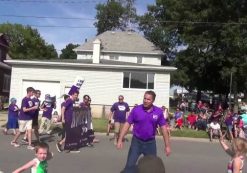
[[[111,107],[111,113],[109,116],[109,122],[114,120],[114,144],[117,145],[117,140],[119,137],[119,132],[122,129],[124,123],[126,122],[127,113],[130,111],[128,103],[124,102],[124,96],[118,96],[118,102],[114,103]]]

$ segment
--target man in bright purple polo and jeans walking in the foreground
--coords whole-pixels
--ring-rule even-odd
[[[136,162],[141,154],[157,155],[155,134],[157,126],[161,127],[165,143],[165,153],[168,156],[171,152],[170,141],[166,129],[166,120],[162,109],[153,105],[156,94],[153,91],[146,91],[143,104],[136,106],[131,111],[127,122],[121,130],[117,148],[123,148],[123,138],[133,124],[133,137],[128,153],[127,163],[123,173],[134,173]]]

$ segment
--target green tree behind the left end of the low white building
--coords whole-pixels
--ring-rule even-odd
[[[9,54],[13,59],[53,59],[57,52],[47,44],[36,29],[21,24],[0,24],[0,32],[7,35]]]

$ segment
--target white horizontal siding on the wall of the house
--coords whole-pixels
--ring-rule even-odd
[[[123,88],[123,71],[110,71],[97,69],[60,69],[58,67],[40,67],[40,66],[13,66],[10,96],[21,100],[22,81],[57,81],[60,82],[61,95],[64,94],[65,87],[71,86],[76,76],[82,76],[85,82],[80,90],[80,100],[84,94],[89,94],[92,98],[93,105],[112,105],[117,101],[118,95],[125,96],[125,101],[130,106],[142,103],[145,89],[125,89]],[[169,106],[169,73],[155,74],[155,89],[157,99],[155,104]],[[38,88],[42,92],[42,88]]]

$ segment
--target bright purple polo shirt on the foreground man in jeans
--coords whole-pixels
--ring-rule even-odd
[[[143,104],[132,109],[127,122],[133,124],[133,135],[143,141],[154,139],[158,125],[166,125],[161,108],[153,106],[152,110],[147,112]]]

